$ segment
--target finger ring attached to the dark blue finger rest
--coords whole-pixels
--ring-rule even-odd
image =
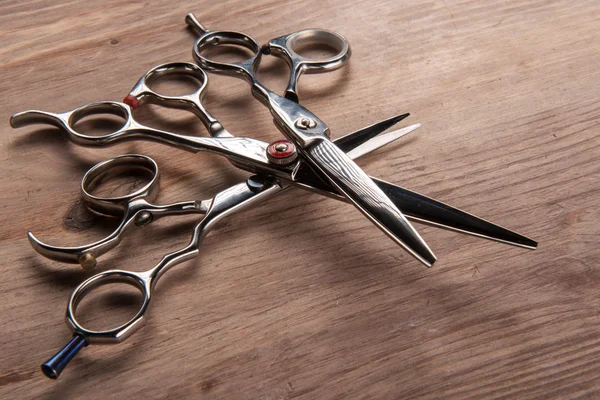
[[[138,289],[142,294],[142,304],[138,312],[126,323],[103,331],[88,329],[77,320],[77,307],[81,300],[94,289],[109,284],[127,284]],[[78,335],[85,338],[87,343],[118,343],[129,337],[144,325],[144,314],[150,305],[152,292],[152,276],[148,272],[136,273],[122,270],[100,272],[81,283],[71,293],[67,305],[67,325]]]

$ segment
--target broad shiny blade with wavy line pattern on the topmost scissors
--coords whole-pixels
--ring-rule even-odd
[[[379,229],[428,267],[436,257],[400,210],[346,154],[329,140],[302,149],[311,166],[318,169]]]

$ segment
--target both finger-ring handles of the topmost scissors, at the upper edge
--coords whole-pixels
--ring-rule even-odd
[[[285,97],[298,102],[298,79],[302,73],[318,73],[333,71],[342,66],[350,57],[350,45],[340,34],[324,29],[306,29],[284,35],[269,41],[260,48],[258,43],[245,33],[235,31],[207,30],[193,14],[186,16],[186,23],[200,33],[194,45],[194,60],[200,67],[229,76],[242,77],[251,84],[256,84],[256,70],[261,54],[273,54],[285,60],[290,67],[290,80]],[[299,55],[295,49],[308,44],[332,47],[337,54],[324,59],[313,59]],[[211,60],[202,53],[212,46],[235,45],[250,50],[252,56],[238,63]]]

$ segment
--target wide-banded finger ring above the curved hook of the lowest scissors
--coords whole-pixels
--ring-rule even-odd
[[[142,170],[149,172],[150,181],[131,193],[122,196],[97,196],[91,193],[99,178],[115,173],[118,170]],[[104,215],[122,216],[134,199],[143,198],[151,202],[159,191],[158,165],[156,162],[141,154],[126,154],[101,161],[86,172],[81,180],[81,194],[87,206],[94,212]]]

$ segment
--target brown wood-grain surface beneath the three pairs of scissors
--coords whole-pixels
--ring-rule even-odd
[[[426,269],[351,206],[292,190],[226,220],[200,257],[165,275],[134,336],[84,349],[47,380],[39,364],[70,337],[68,295],[93,272],[38,256],[26,232],[73,245],[114,227],[79,202],[87,168],[152,156],[159,202],[205,198],[245,175],[217,156],[82,148],[8,119],[120,100],[150,67],[191,61],[191,11],[259,43],[308,27],[345,35],[349,66],[305,77],[303,104],[333,136],[411,112],[406,124],[423,127],[366,157],[365,170],[539,249],[418,226],[439,257]],[[0,37],[0,397],[600,398],[597,0],[5,0]],[[284,65],[265,61],[262,79],[283,88]],[[244,82],[210,82],[206,106],[231,132],[280,137]],[[141,117],[205,134],[190,114]],[[96,271],[153,266],[187,243],[196,218],[134,229]],[[84,304],[85,320],[126,319],[136,298],[120,293]]]

